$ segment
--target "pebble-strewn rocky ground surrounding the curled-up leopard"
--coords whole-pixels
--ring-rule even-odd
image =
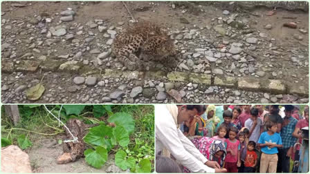
[[[229,2],[127,8],[169,31],[176,68],[129,71],[113,58],[113,39],[132,25],[120,1],[1,3],[2,102],[308,103],[308,12],[268,16],[273,8]],[[42,77],[44,95],[28,100]]]

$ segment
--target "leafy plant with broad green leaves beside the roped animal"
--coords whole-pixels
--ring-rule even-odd
[[[94,108],[95,109],[95,108]],[[107,153],[117,145],[127,148],[129,135],[134,132],[135,121],[129,113],[115,113],[107,119],[109,125],[100,123],[100,126],[89,129],[89,133],[84,137],[84,142],[93,146],[93,149],[84,151],[86,162],[100,168],[107,161]],[[119,151],[117,151],[119,150]],[[121,149],[116,149],[115,164],[127,170],[138,173],[149,173],[152,170],[149,160],[141,160],[136,164],[134,157],[128,157],[127,153]]]

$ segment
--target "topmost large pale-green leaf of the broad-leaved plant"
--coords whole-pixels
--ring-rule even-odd
[[[115,113],[109,117],[108,122],[124,127],[129,135],[134,132],[134,119],[129,113]]]

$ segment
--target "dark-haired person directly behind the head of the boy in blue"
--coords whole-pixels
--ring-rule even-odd
[[[282,117],[279,115],[279,111],[279,105],[270,105],[269,113],[264,117],[264,123],[271,121],[277,124],[277,133],[280,133],[283,122]],[[264,128],[264,131],[268,131],[266,127]]]

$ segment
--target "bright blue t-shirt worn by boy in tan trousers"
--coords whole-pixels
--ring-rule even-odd
[[[266,144],[266,143],[272,143],[272,144],[282,144],[282,139],[280,137],[279,133],[274,133],[273,135],[269,135],[267,132],[264,132],[260,135],[258,139],[259,144]],[[266,154],[275,154],[278,153],[277,147],[269,148],[268,146],[262,147],[262,152]]]

